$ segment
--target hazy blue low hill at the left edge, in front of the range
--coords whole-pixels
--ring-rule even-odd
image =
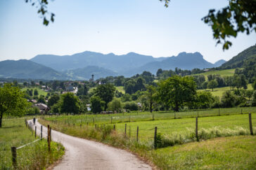
[[[62,73],[27,59],[0,62],[1,78],[32,78],[45,80],[66,80]]]

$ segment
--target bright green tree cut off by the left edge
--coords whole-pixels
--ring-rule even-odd
[[[0,87],[0,128],[2,127],[3,115],[25,115],[27,100],[23,98],[23,92],[11,84],[4,84]]]

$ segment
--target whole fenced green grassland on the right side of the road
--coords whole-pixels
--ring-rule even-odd
[[[242,109],[243,113],[252,113],[253,132],[256,133],[255,108]],[[154,113],[159,116],[156,116],[157,120],[152,120],[153,115],[144,112],[125,113],[127,115],[63,115],[45,118],[39,122],[43,125],[49,124],[53,129],[65,134],[131,150],[153,162],[159,169],[252,169],[256,164],[256,138],[248,136],[248,114],[238,114],[241,113],[241,108],[224,108],[220,113],[221,116],[217,116],[219,109],[199,111],[200,116],[214,115],[198,118],[200,142],[194,142],[196,118],[188,118],[196,116],[197,111],[178,113],[183,117],[181,119],[174,119],[173,112],[158,112]],[[111,124],[111,118],[117,121]],[[95,124],[89,122],[92,119]],[[157,149],[153,149],[155,127],[158,127],[160,134]]]

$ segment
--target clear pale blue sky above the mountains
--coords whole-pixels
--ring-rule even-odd
[[[225,0],[55,0],[49,10],[55,22],[45,27],[37,9],[23,0],[0,1],[0,61],[30,59],[39,54],[72,55],[85,50],[116,55],[137,52],[169,57],[200,52],[209,62],[231,59],[255,45],[256,34],[238,34],[223,52],[212,30],[201,20]]]

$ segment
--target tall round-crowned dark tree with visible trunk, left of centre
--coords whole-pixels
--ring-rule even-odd
[[[108,103],[112,101],[115,94],[115,87],[112,84],[99,85],[94,91],[95,96],[101,98],[102,101],[105,101],[104,110],[107,109]]]

